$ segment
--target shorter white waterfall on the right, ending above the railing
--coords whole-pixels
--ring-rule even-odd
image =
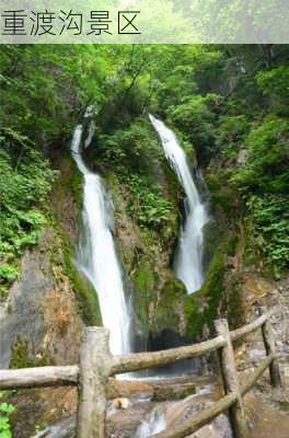
[[[152,115],[150,120],[160,137],[165,157],[186,194],[185,223],[181,230],[176,255],[176,276],[184,283],[187,292],[192,293],[204,283],[203,229],[209,218],[189,171],[186,154],[178,145],[176,136],[163,122]]]

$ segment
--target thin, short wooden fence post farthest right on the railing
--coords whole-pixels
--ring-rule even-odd
[[[259,311],[259,314],[267,313],[267,308],[265,306],[259,307],[258,311]],[[262,335],[263,335],[263,342],[264,342],[265,349],[266,349],[266,355],[267,356],[270,356],[270,355],[276,356],[275,339],[274,339],[274,333],[273,333],[269,316],[267,316],[266,322],[262,325]],[[276,357],[274,357],[273,361],[269,365],[269,373],[270,373],[271,385],[275,388],[281,387],[280,370],[279,370],[279,365],[278,365]]]

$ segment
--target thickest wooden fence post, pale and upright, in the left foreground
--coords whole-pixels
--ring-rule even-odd
[[[109,332],[85,327],[80,350],[78,438],[104,438]]]

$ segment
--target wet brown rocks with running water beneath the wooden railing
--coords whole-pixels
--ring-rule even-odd
[[[204,387],[206,383],[207,385]],[[155,383],[151,381],[149,384],[153,385],[154,391],[158,385],[163,387],[162,395],[165,395],[164,390],[167,382],[159,381],[159,383]],[[180,389],[180,382],[177,381],[171,381],[170,384],[174,384],[176,391]],[[114,401],[107,416],[107,436],[112,438],[146,438],[165,428],[182,425],[184,420],[206,410],[220,396],[219,388],[210,383],[210,381],[199,381],[199,384],[203,390],[178,401],[170,401],[165,396],[162,402],[159,401],[158,403],[152,402],[152,400],[141,402],[140,400],[134,401],[131,399],[126,408],[117,407]],[[193,437],[232,438],[227,416],[220,415],[213,422],[193,434]]]

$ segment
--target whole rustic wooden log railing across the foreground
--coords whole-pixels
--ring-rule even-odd
[[[109,377],[154,368],[218,350],[226,395],[210,407],[182,422],[182,424],[153,435],[153,438],[186,437],[227,411],[229,411],[234,438],[245,438],[247,437],[247,426],[243,396],[267,368],[269,368],[271,385],[280,385],[280,373],[270,324],[273,313],[274,311],[267,312],[266,309],[262,308],[258,319],[233,332],[229,331],[227,320],[217,320],[215,326],[218,336],[199,344],[124,356],[112,356],[108,347],[109,333],[106,328],[86,327],[79,366],[1,370],[0,390],[78,385],[78,438],[104,438]],[[240,384],[233,343],[257,328],[262,328],[266,358]]]

